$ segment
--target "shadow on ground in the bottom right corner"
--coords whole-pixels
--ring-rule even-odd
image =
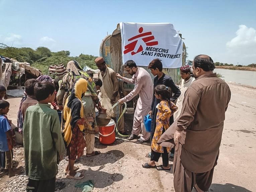
[[[216,191],[216,192],[252,192],[244,187],[233,185],[231,183],[211,184],[210,189],[208,191],[209,192],[211,192],[211,191]]]

